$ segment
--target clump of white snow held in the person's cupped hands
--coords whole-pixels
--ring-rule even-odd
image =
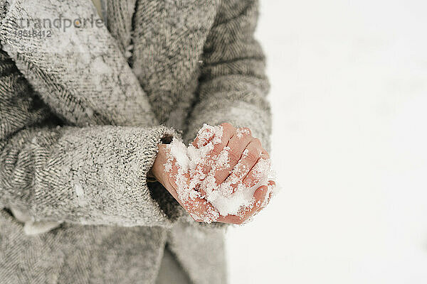
[[[246,129],[238,129],[238,138],[241,138],[246,131]],[[213,154],[214,147],[221,143],[222,136],[223,126],[204,124],[199,130],[195,145],[190,144],[186,147],[177,138],[167,145],[168,160],[164,164],[164,170],[176,184],[179,201],[181,204],[198,207],[187,211],[194,219],[208,223],[217,221],[220,216],[242,216],[257,202],[253,195],[259,187],[268,188],[266,196],[274,190],[274,185],[268,182],[270,159],[261,156],[253,168],[249,169],[241,162],[242,158],[248,155],[248,149],[243,151],[241,159],[232,168],[228,178],[221,184],[217,184],[215,173],[218,170],[230,168],[228,155],[230,147],[225,146],[220,153]],[[251,187],[243,183],[243,178],[249,170],[252,173],[252,183],[255,182]],[[267,198],[263,203],[258,204],[258,207],[264,207]]]

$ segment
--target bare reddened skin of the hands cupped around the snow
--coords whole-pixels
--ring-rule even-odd
[[[257,163],[261,163],[263,159],[268,159],[268,153],[262,148],[258,138],[253,138],[251,130],[247,128],[236,129],[231,124],[221,124],[223,133],[221,142],[216,143],[214,148],[207,153],[208,163],[197,165],[203,173],[212,172],[216,185],[227,184],[230,190],[236,190],[238,183],[243,182],[246,187],[253,187],[262,182],[263,177],[256,173]],[[205,129],[204,131],[209,131]],[[216,138],[214,133],[199,133],[193,142],[195,148],[205,146],[210,139]],[[218,166],[216,160],[223,151],[228,152],[228,163],[223,166]],[[176,161],[172,160],[172,170],[165,171],[164,165],[167,163],[169,155],[166,145],[159,145],[159,153],[152,167],[152,174],[159,182],[174,196],[174,198],[186,209],[191,217],[196,221],[203,221],[206,217],[211,216],[216,212],[216,209],[207,202],[204,198],[195,197],[191,200],[181,200],[176,192],[176,173],[178,167]],[[186,182],[189,183],[190,177],[186,176]],[[269,186],[275,186],[273,180],[268,181]],[[241,209],[236,215],[228,215],[226,217],[218,215],[217,222],[242,224],[251,218],[254,214],[260,211],[269,202],[271,193],[267,196],[268,185],[262,185],[255,190],[253,197],[255,202],[253,207]]]

